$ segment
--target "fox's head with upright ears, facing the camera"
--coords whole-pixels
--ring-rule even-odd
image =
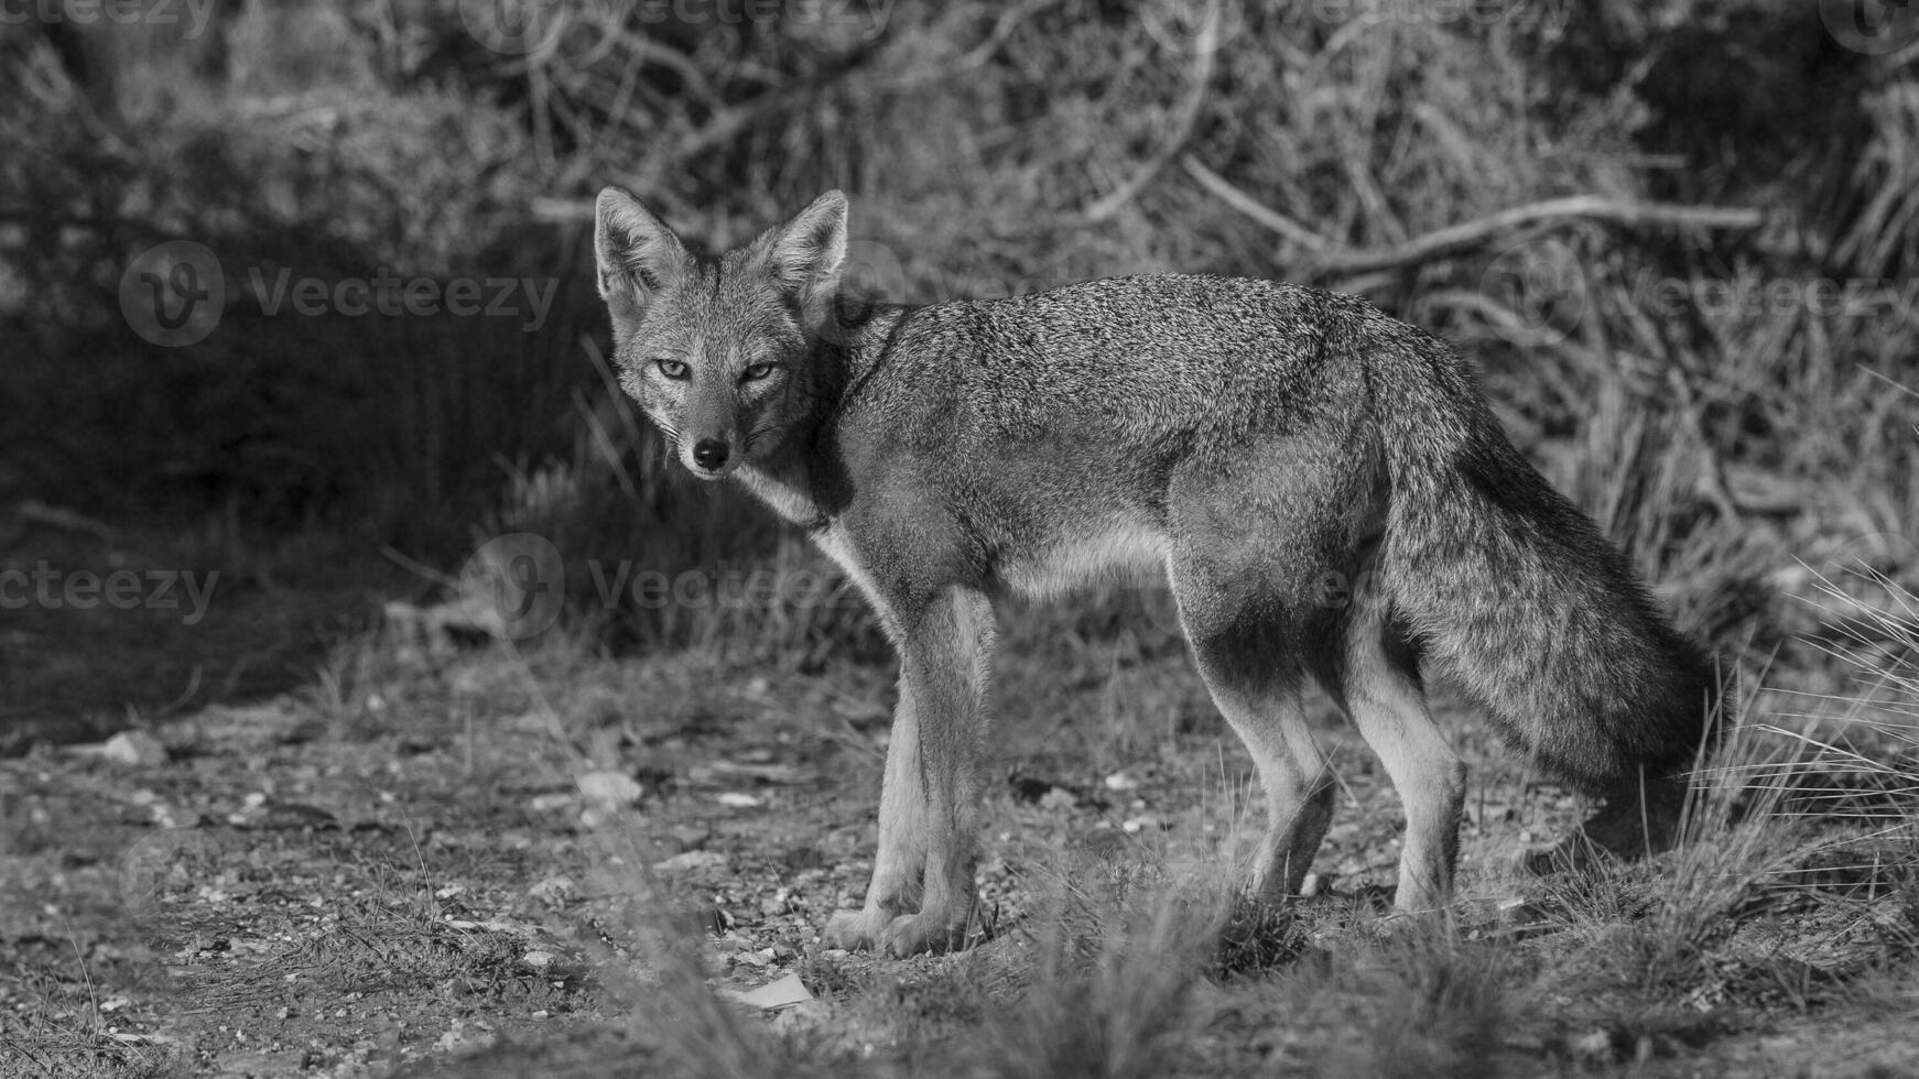
[[[604,188],[593,249],[620,385],[687,471],[720,479],[814,414],[814,349],[846,257],[844,194],[700,261],[629,192]]]

